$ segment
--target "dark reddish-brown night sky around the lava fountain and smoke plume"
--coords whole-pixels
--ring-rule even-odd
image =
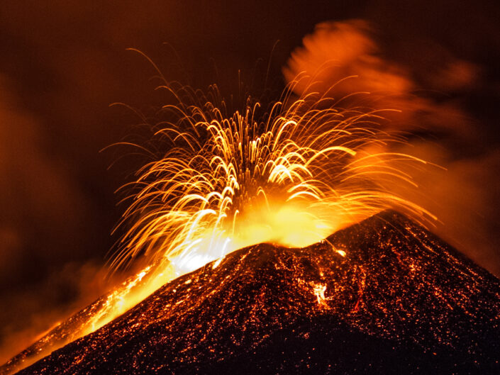
[[[128,47],[145,52],[168,80],[201,89],[215,82],[223,95],[237,96],[240,77],[258,95],[277,40],[270,82],[279,92],[282,67],[304,35],[317,23],[350,18],[370,22],[384,59],[404,66],[426,94],[435,90],[428,72],[443,59],[477,68],[474,84],[441,93],[460,106],[471,127],[433,142],[448,147],[457,181],[472,181],[467,191],[460,182],[450,189],[454,196],[476,192],[471,217],[487,219],[479,232],[489,250],[470,255],[499,274],[500,6],[448,0],[4,1],[0,321],[6,324],[0,359],[25,344],[27,330],[48,328],[74,303],[105,288],[96,275],[117,240],[110,233],[124,210],[113,191],[134,170],[128,159],[108,170],[120,151],[99,150],[139,122],[109,105],[123,102],[153,113],[166,100],[154,91],[154,69]],[[471,241],[464,242],[469,249]]]

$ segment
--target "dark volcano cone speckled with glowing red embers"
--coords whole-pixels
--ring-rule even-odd
[[[500,281],[386,211],[234,252],[19,374],[194,373],[500,374]]]

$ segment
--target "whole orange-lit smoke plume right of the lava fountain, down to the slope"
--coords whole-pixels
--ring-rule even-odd
[[[418,191],[399,193],[438,217],[431,230],[498,276],[500,152],[484,147],[488,126],[464,109],[485,84],[481,69],[442,47],[422,53],[435,61],[433,69],[384,57],[366,21],[321,23],[283,72],[297,95],[319,91],[340,106],[382,110],[382,124],[410,140],[398,151],[444,167],[413,172]]]

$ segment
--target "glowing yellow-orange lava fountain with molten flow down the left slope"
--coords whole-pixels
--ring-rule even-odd
[[[394,190],[413,186],[411,169],[426,162],[390,151],[404,140],[384,133],[384,111],[340,108],[316,93],[292,100],[292,84],[262,115],[250,97],[228,115],[216,89],[206,96],[162,88],[178,103],[162,109],[167,119],[152,140],[160,152],[148,151],[154,159],[126,186],[128,230],[111,263],[121,269],[140,258],[148,266],[14,362],[26,365],[94,332],[165,283],[213,261],[216,268],[242,247],[305,247],[386,208],[433,218]],[[318,301],[323,293],[318,286]]]

